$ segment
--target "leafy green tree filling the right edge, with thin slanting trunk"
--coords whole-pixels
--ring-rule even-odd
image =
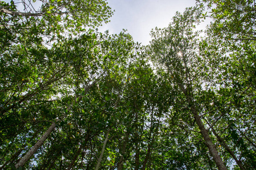
[[[206,47],[201,51],[204,60],[214,68],[212,76],[219,84],[216,94],[221,97],[216,104],[222,103],[221,113],[226,124],[218,137],[222,145],[230,153],[240,169],[253,169],[255,164],[254,142],[249,142],[243,134],[254,136],[254,125],[247,121],[254,121],[255,113],[255,2],[253,1],[199,1],[201,7],[207,5],[212,9],[213,22],[207,30],[207,39],[201,45]],[[217,109],[217,108],[216,108]],[[228,113],[227,113],[228,112]],[[245,118],[246,117],[246,118]],[[222,118],[218,118],[221,121]],[[216,126],[216,125],[213,125]],[[236,127],[236,128],[235,128]],[[216,127],[217,128],[217,127]],[[214,128],[213,128],[214,130]],[[214,133],[214,131],[213,131]],[[233,146],[229,143],[234,143]],[[238,142],[237,142],[238,140]],[[225,143],[226,141],[226,143]],[[228,146],[229,144],[229,146]],[[232,153],[236,154],[236,156]]]

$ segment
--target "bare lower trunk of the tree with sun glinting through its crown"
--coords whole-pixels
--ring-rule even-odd
[[[188,103],[191,104],[191,100],[188,99]],[[218,169],[220,170],[227,170],[226,166],[221,160],[220,155],[218,154],[218,151],[215,147],[215,145],[212,142],[212,139],[210,139],[210,136],[208,134],[208,131],[205,129],[203,122],[200,119],[200,116],[197,114],[195,105],[191,104],[191,111],[193,113],[193,116],[195,117],[196,124],[199,126],[199,129],[201,131],[201,134],[203,135],[205,144],[207,145],[210,155],[212,155],[214,162],[216,163]]]

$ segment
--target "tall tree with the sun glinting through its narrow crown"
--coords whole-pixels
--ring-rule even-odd
[[[200,66],[197,65],[196,44],[199,32],[193,32],[194,24],[199,23],[201,11],[187,8],[183,15],[177,13],[173,22],[166,29],[156,29],[152,32],[150,56],[156,64],[166,68],[170,83],[177,89],[177,95],[184,95],[187,109],[195,119],[211,156],[219,169],[226,169],[210,135],[200,116],[201,108],[196,96],[203,90],[200,82]],[[187,122],[192,117],[188,117]],[[190,119],[190,120],[189,120]]]

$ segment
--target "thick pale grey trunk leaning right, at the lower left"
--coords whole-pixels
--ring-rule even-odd
[[[55,127],[56,124],[55,122],[53,122],[49,129],[46,131],[46,133],[44,133],[44,135],[39,139],[38,142],[36,142],[36,144],[30,149],[30,151],[28,151],[27,154],[24,155],[23,158],[15,164],[15,168],[23,167],[23,165],[31,158],[31,156],[35,154],[38,148],[43,145],[44,141],[46,141],[47,137],[49,136],[49,134],[51,134]]]

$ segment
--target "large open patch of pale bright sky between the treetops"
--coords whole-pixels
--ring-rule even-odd
[[[195,0],[108,0],[115,10],[111,22],[103,24],[99,31],[119,33],[127,29],[135,42],[149,44],[152,28],[168,27],[176,11],[183,12],[186,7],[195,6]]]

